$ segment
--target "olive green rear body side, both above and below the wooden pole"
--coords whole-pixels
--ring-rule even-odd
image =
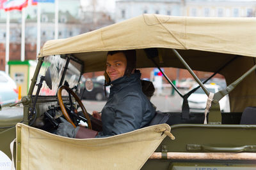
[[[172,153],[255,153],[256,125],[172,126],[175,140],[165,138],[155,152]],[[246,138],[246,140],[244,140]],[[163,148],[166,150],[164,151]],[[255,156],[255,155],[254,155]],[[236,156],[235,156],[236,157]],[[255,169],[255,160],[228,159],[161,159],[148,160],[141,169]]]

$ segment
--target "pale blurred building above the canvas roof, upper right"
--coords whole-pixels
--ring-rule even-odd
[[[117,0],[115,21],[143,13],[189,17],[256,17],[255,0]]]

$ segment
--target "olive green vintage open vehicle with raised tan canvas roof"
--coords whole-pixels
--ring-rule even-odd
[[[156,67],[154,62],[159,67],[185,68],[195,80],[197,79],[203,89],[204,85],[192,69],[215,73],[227,64],[218,73],[225,76],[228,87],[214,94],[207,124],[171,121],[169,125],[172,127],[171,132],[175,140],[165,138],[155,151],[161,153],[161,158],[148,159],[141,169],[255,169],[255,157],[252,159],[167,157],[169,153],[256,154],[256,125],[239,124],[244,108],[256,106],[255,23],[255,18],[142,15],[74,38],[47,41],[38,55],[38,64],[28,96],[22,97],[22,113],[17,114],[17,117],[0,119],[0,127],[7,127],[0,129],[0,150],[11,158],[10,143],[16,138],[14,125],[18,122],[29,124],[31,121],[29,111],[35,100],[33,92],[45,57],[49,55],[73,57],[83,64],[81,67],[83,74],[103,71],[106,53],[109,50],[135,49],[138,68]],[[209,95],[207,90],[205,93]],[[230,98],[231,112],[221,113],[218,101],[227,94]],[[52,105],[58,105],[56,96],[39,96],[35,104],[39,113],[37,117]],[[18,108],[17,110],[20,111]],[[1,111],[8,112],[9,109],[2,108]],[[15,110],[15,107],[11,109]],[[204,113],[198,114],[204,115]],[[182,117],[182,113],[172,113],[170,119],[173,115]]]

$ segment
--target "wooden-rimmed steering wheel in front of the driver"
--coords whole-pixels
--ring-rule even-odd
[[[68,95],[70,95],[69,96],[70,107],[68,107],[66,104],[63,103],[63,99],[62,99],[62,96],[61,96],[61,92],[62,92],[63,89],[67,90]],[[84,105],[83,105],[82,101],[79,99],[79,97],[76,95],[76,93],[72,89],[70,89],[69,87],[67,87],[65,85],[62,85],[58,89],[57,96],[58,96],[58,101],[60,103],[60,108],[61,108],[61,111],[62,111],[64,117],[74,127],[76,127],[78,125],[78,122],[76,121],[76,117],[78,118],[79,115],[77,113],[76,107],[73,106],[73,104],[72,104],[71,95],[75,98],[75,100],[77,101],[77,103],[81,107],[81,110],[83,111],[84,117],[87,120],[88,129],[92,129],[92,124],[91,124],[91,120],[90,120],[89,114],[86,111],[86,109],[84,108]],[[72,115],[72,118],[70,118],[70,115],[68,113],[70,113]]]

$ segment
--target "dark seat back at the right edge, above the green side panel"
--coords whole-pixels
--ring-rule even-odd
[[[240,124],[256,125],[256,107],[247,107],[244,109]]]

